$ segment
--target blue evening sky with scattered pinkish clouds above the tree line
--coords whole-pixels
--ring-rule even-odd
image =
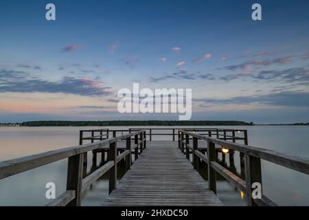
[[[309,122],[309,1],[0,2],[0,122],[178,119],[118,113],[133,83],[192,89],[192,120]]]

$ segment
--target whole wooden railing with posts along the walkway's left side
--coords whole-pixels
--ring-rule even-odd
[[[132,138],[135,140],[134,144],[131,144]],[[117,142],[120,140],[126,140],[126,149],[118,155]],[[106,148],[106,146],[108,148],[108,161],[93,171],[93,173],[84,177],[84,158],[87,158],[87,152]],[[108,171],[109,192],[115,189],[117,183],[117,164],[122,159],[125,159],[126,170],[130,169],[133,151],[135,159],[137,159],[139,153],[143,152],[144,148],[146,148],[146,132],[139,130],[126,135],[101,139],[100,142],[61,148],[55,151],[0,162],[0,179],[68,158],[67,190],[49,203],[48,206],[80,206],[82,191],[91,186],[94,181],[98,180]]]

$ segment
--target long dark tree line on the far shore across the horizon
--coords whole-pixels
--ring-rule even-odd
[[[23,122],[21,126],[248,126],[253,122],[240,121],[34,121]]]

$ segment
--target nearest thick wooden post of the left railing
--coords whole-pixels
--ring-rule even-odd
[[[83,160],[83,154],[69,157],[67,165],[67,190],[75,190],[75,199],[70,201],[67,206],[80,206],[81,204]]]

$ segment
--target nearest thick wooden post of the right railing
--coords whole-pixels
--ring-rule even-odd
[[[262,172],[261,172],[261,159],[253,157],[251,155],[244,156],[244,175],[246,179],[246,195],[247,195],[247,206],[257,206],[252,199],[252,184],[261,184],[261,195],[262,195]]]

